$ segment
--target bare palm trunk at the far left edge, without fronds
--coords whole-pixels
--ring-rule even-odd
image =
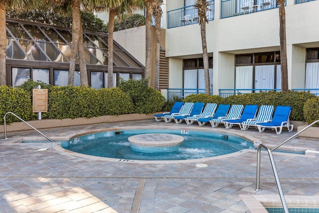
[[[5,3],[0,0],[0,86],[6,84],[6,29],[5,29]]]

